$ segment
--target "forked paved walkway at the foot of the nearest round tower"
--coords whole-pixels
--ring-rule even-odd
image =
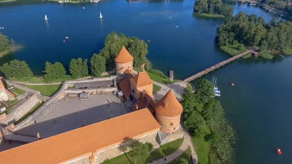
[[[181,123],[182,122],[183,122],[183,120],[181,120]],[[175,152],[173,152],[172,154],[170,154],[162,159],[153,161],[151,164],[168,164],[171,161],[176,160],[179,156],[181,156],[183,154],[183,152],[188,148],[188,146],[191,147],[192,154],[195,156],[195,159],[198,162],[198,158],[197,158],[194,146],[193,146],[192,141],[191,141],[192,137],[189,135],[189,132],[187,131],[187,129],[184,128],[183,125],[182,125],[182,128],[183,128],[183,137],[184,137],[182,146],[179,149],[177,149]],[[165,158],[166,158],[166,161],[165,161]]]

